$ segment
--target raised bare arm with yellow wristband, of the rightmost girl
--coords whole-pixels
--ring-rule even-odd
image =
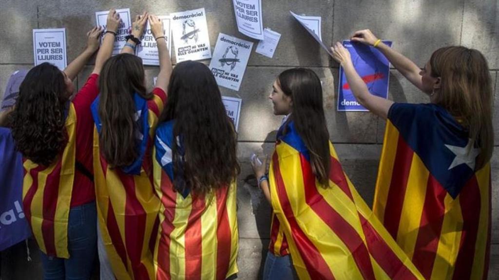
[[[371,30],[364,29],[355,32],[350,40],[373,46],[378,41],[378,38],[374,36]],[[404,75],[404,77],[406,77],[417,88],[423,90],[421,75],[419,74],[421,69],[418,65],[381,41],[376,44],[376,47],[386,56],[390,63],[392,63],[393,66],[402,75]]]

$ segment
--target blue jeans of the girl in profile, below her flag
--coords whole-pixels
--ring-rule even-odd
[[[279,257],[267,252],[265,266],[263,267],[263,280],[298,279],[291,262],[291,255]]]

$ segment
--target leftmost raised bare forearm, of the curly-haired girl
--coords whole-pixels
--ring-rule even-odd
[[[64,69],[64,73],[66,76],[74,80],[78,73],[80,73],[83,66],[87,63],[90,57],[95,53],[96,50],[99,49],[99,38],[102,34],[102,27],[94,27],[92,30],[87,32],[87,46],[83,50],[83,52],[78,55],[69,65]]]

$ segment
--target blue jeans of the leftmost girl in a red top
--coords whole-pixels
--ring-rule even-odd
[[[41,253],[43,279],[88,280],[97,251],[97,208],[95,201],[69,210],[69,259],[50,257]]]

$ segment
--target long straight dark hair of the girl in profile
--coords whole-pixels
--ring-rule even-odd
[[[289,121],[293,121],[298,135],[310,152],[310,164],[317,180],[329,185],[329,133],[322,105],[320,80],[310,69],[285,70],[277,78],[279,87],[292,100]]]

